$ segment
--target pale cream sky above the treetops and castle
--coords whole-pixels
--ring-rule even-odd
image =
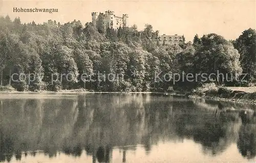
[[[56,13],[13,12],[13,8],[54,8]],[[192,41],[195,34],[216,33],[227,40],[236,39],[246,29],[256,29],[256,0],[253,1],[4,1],[0,0],[0,15],[11,19],[20,17],[24,22],[46,22],[49,19],[61,24],[74,19],[82,24],[92,20],[92,12],[113,10],[115,15],[129,15],[128,24],[138,29],[145,24],[160,34],[184,35]]]

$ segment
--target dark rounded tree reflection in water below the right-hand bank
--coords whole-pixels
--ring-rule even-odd
[[[180,137],[193,138],[203,146],[205,153],[216,155],[223,152],[236,139],[236,126],[233,126],[232,113],[221,112],[216,116],[216,108],[205,101],[193,101],[200,110],[181,112],[177,115],[176,131]],[[218,106],[218,103],[216,104]],[[202,108],[202,109],[201,109]],[[218,107],[217,107],[218,109]],[[238,114],[238,113],[236,113]]]

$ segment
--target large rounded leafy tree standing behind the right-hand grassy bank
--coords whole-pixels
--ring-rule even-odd
[[[213,33],[204,35],[201,41],[201,48],[195,54],[195,72],[206,73],[207,76],[214,73],[212,79],[215,80],[216,85],[221,85],[223,81],[231,78],[233,80],[242,72],[240,54],[230,42]],[[218,76],[218,72],[223,76]]]

